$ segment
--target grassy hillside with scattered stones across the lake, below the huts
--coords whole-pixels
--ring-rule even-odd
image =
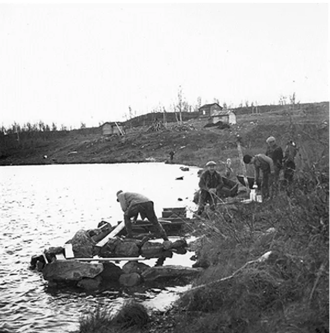
[[[11,134],[0,138],[0,165],[161,162],[168,160],[169,152],[173,150],[177,164],[203,166],[208,160],[231,158],[234,166],[239,167],[237,135],[243,139],[244,150],[250,153],[263,152],[269,135],[275,136],[282,146],[288,139],[301,146],[315,146],[315,154],[321,153],[320,149],[325,150],[319,140],[329,147],[329,102],[304,104],[294,110],[289,106],[264,106],[259,107],[259,115],[243,111],[236,110],[236,125],[222,130],[204,128],[207,119],[191,115],[182,126],[168,122],[164,130],[147,132],[149,126],[143,126],[143,122],[148,117],[155,117],[155,114],[149,114],[145,119],[140,116],[129,120],[126,135],[122,137],[103,137],[100,128],[23,132],[20,142]],[[135,121],[135,127],[131,128],[132,121]],[[325,154],[329,157],[329,148]]]

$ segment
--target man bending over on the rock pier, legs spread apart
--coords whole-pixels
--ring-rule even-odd
[[[140,214],[142,219],[147,217],[147,219],[154,225],[159,237],[168,240],[165,230],[154,213],[154,202],[152,200],[142,194],[123,192],[122,190],[118,191],[116,195],[117,201],[120,203],[121,209],[124,212],[127,238],[132,238],[131,218],[134,217],[134,220],[136,220],[137,215]]]

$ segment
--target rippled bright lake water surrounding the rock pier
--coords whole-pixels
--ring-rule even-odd
[[[184,176],[183,180],[176,177]],[[163,309],[187,286],[108,290],[52,289],[28,269],[32,255],[63,246],[79,229],[101,220],[122,220],[117,190],[141,192],[164,207],[188,206],[197,188],[197,168],[181,171],[160,163],[0,167],[0,329],[10,332],[70,332],[97,305],[118,307],[130,297]],[[182,198],[183,201],[178,201]],[[188,256],[164,264],[191,265]],[[150,265],[155,260],[148,262]]]

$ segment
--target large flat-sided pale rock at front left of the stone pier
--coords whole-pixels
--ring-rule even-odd
[[[44,279],[47,281],[79,281],[82,278],[94,278],[102,271],[102,263],[80,262],[78,260],[64,260],[47,263],[44,266],[43,275]]]

